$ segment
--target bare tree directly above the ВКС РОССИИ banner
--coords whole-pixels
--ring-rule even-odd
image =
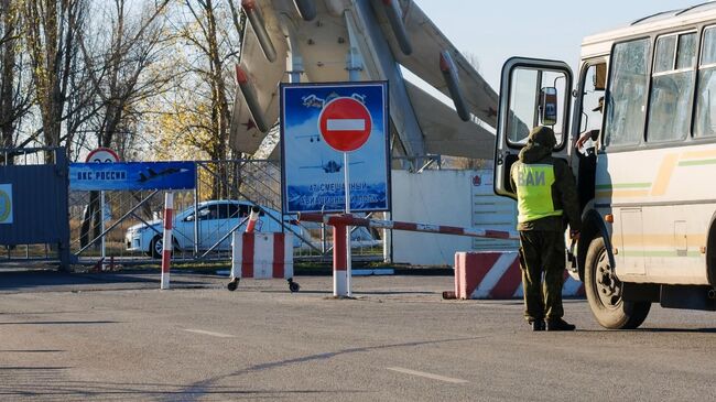
[[[122,157],[131,143],[132,127],[141,119],[139,102],[164,90],[172,74],[152,70],[172,40],[162,18],[169,2],[145,1],[134,14],[126,0],[105,2],[96,10],[104,11],[101,22],[89,34],[80,34],[98,109],[88,126],[97,132],[98,145],[113,146]]]

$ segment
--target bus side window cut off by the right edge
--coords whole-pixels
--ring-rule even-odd
[[[716,134],[716,26],[704,31],[702,48],[694,135],[710,137]]]

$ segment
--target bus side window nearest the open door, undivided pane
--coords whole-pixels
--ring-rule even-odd
[[[617,43],[611,56],[604,144],[636,145],[644,132],[649,39]]]

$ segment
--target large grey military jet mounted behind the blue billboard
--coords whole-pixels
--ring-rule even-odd
[[[249,23],[237,66],[235,150],[256,153],[276,123],[281,82],[388,80],[393,155],[493,157],[486,127],[497,124],[497,94],[413,1],[241,4]],[[403,79],[400,66],[452,98],[455,109]]]

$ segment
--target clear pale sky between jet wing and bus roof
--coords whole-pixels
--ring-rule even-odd
[[[692,0],[415,0],[497,90],[500,68],[511,56],[562,59],[576,69],[584,36],[623,26]]]

